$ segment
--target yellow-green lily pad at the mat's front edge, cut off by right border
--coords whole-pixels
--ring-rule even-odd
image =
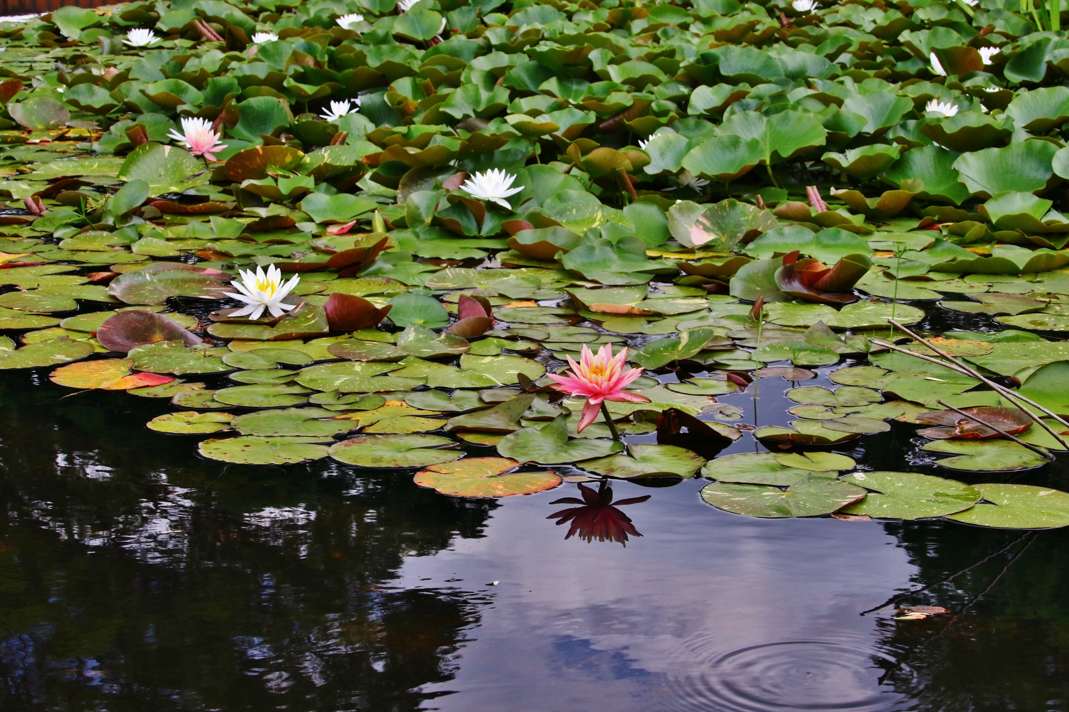
[[[947,519],[1006,529],[1069,525],[1069,493],[1031,485],[977,485],[985,502]]]

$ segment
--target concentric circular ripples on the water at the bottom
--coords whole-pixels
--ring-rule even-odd
[[[675,710],[783,712],[910,709],[904,696],[879,678],[895,660],[862,643],[780,640],[713,656],[704,673],[676,686]],[[905,670],[898,670],[900,679]],[[903,707],[904,705],[904,707]]]

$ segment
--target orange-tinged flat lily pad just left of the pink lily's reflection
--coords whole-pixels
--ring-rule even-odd
[[[501,457],[474,457],[443,464],[432,464],[417,472],[420,487],[462,497],[499,497],[533,494],[557,487],[562,481],[555,472],[510,472],[518,462]]]

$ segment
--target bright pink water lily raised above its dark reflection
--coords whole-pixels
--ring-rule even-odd
[[[642,375],[641,368],[625,368],[626,348],[614,357],[613,345],[606,344],[598,350],[598,355],[594,355],[584,344],[579,363],[575,363],[572,357],[568,357],[568,363],[572,367],[571,373],[564,371],[563,376],[555,374],[547,376],[557,381],[553,386],[557,391],[587,399],[583,406],[583,417],[579,418],[580,432],[598,417],[602,401],[650,402],[644,395],[624,391],[632,381]],[[611,423],[609,428],[613,429]]]

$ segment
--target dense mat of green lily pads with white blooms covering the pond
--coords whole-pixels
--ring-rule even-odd
[[[0,23],[0,368],[168,398],[149,427],[226,462],[456,496],[701,476],[756,517],[1064,526],[1064,492],[832,452],[890,421],[947,474],[1069,449],[1060,19],[158,0]],[[935,312],[974,326],[932,334]],[[587,370],[549,378],[606,345],[646,373],[603,405]],[[790,427],[717,401],[781,379]],[[717,457],[742,437],[769,452]]]

